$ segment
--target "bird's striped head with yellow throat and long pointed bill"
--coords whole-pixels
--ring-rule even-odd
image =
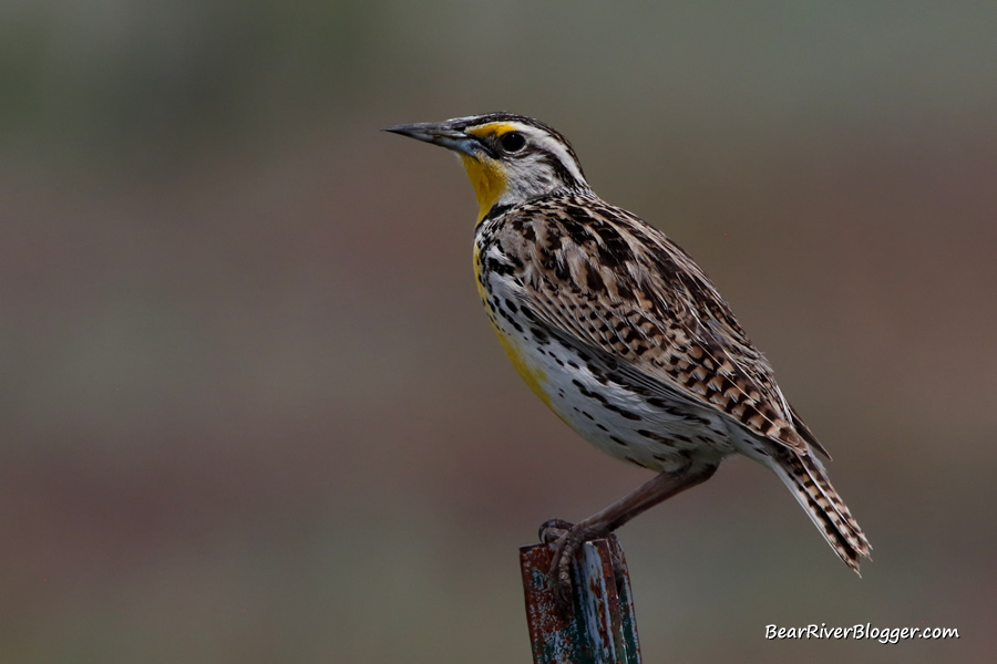
[[[479,221],[496,205],[516,205],[557,190],[589,191],[567,139],[531,117],[489,113],[384,131],[455,152],[474,186]]]

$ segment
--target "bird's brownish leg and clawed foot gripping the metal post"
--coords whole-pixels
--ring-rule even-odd
[[[624,496],[606,509],[575,525],[563,519],[551,519],[541,526],[541,541],[554,544],[554,558],[549,574],[556,587],[562,606],[572,600],[571,564],[583,542],[606,537],[637,515],[688,488],[706,481],[716,473],[718,464],[696,464],[690,460],[677,470],[665,471]]]

